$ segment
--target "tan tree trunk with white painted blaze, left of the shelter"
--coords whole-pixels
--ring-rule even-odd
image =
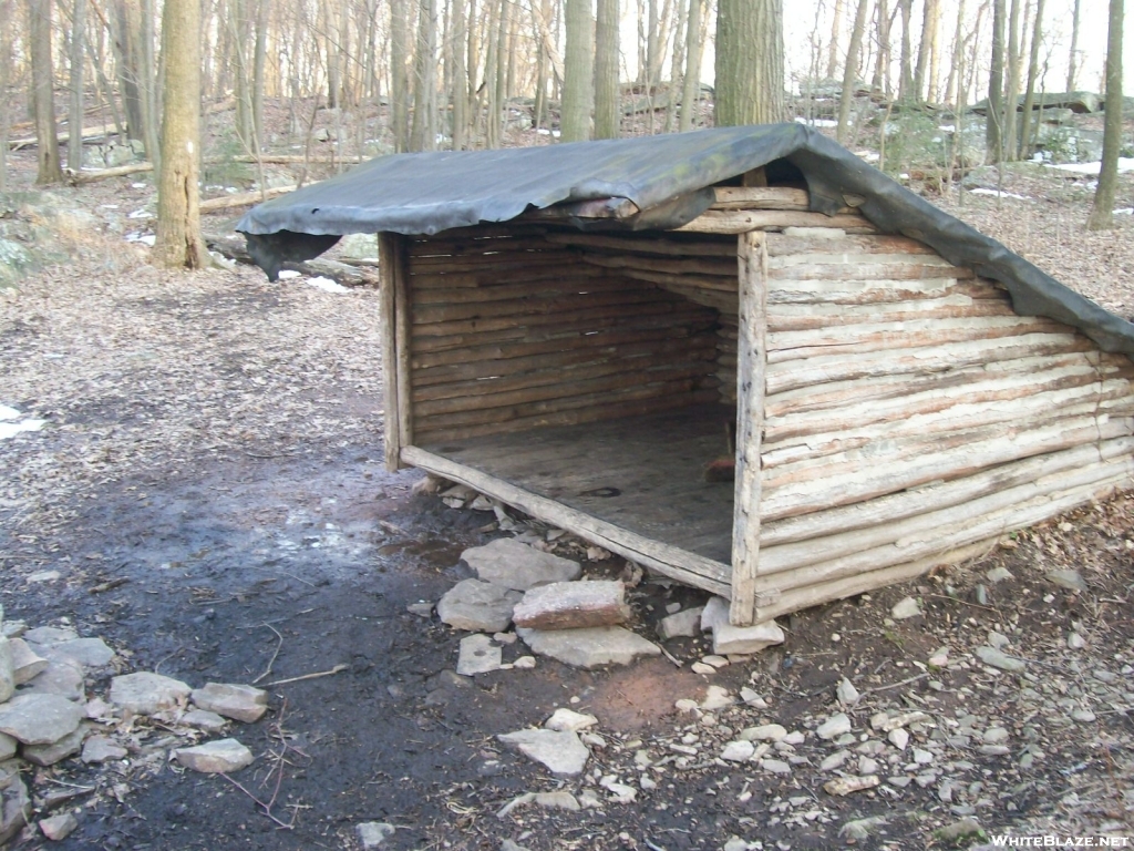
[[[162,40],[166,62],[164,116],[158,182],[158,237],[153,262],[200,269],[209,263],[201,239],[197,162],[201,137],[201,5],[166,0]]]

